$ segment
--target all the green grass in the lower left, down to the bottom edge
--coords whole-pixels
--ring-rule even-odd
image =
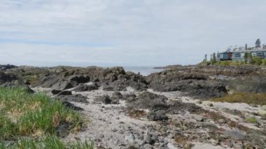
[[[66,148],[56,137],[57,127],[68,124],[69,132],[82,127],[80,113],[59,100],[42,93],[29,94],[20,87],[0,87],[0,111],[0,148]],[[5,141],[15,143],[10,146]],[[71,148],[90,145],[75,143]]]

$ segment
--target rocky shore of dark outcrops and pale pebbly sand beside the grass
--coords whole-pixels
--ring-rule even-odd
[[[266,148],[265,106],[210,100],[265,93],[265,78],[256,66],[178,65],[141,76],[122,67],[0,65],[1,87],[45,92],[80,111],[87,126],[59,136],[97,148]]]

